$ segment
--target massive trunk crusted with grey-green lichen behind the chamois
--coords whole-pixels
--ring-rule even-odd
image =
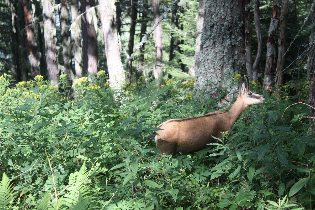
[[[241,0],[205,2],[195,89],[209,91],[206,95],[208,98],[219,95],[215,91],[216,87],[231,87],[229,82],[221,82],[230,76],[231,71],[243,72],[244,9],[245,1]],[[233,87],[229,92],[235,92],[236,89]],[[226,99],[231,101],[233,94],[228,94]]]

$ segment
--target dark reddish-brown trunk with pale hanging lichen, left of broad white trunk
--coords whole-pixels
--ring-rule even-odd
[[[90,72],[97,75],[97,37],[93,20],[88,17],[88,10],[95,6],[95,0],[81,0],[81,12],[84,13],[82,21],[83,38],[83,73]]]

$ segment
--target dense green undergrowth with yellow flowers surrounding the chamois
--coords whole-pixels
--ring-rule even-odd
[[[10,82],[0,77],[0,209],[315,208],[309,107],[292,105],[308,98],[305,82],[286,84],[278,99],[252,83],[265,103],[218,144],[161,158],[157,125],[217,110],[220,98],[195,99],[184,79],[140,78],[113,92],[103,71],[78,79],[73,99],[64,76],[62,88],[41,76]]]

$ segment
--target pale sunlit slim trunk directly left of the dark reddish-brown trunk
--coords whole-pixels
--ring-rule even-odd
[[[78,18],[79,15],[79,0],[72,0],[71,5],[71,22],[72,28],[71,33],[73,37],[73,48],[72,53],[74,55],[74,70],[76,73],[76,77],[83,77],[82,74],[82,48],[81,48],[81,40],[80,40],[80,25],[81,18]]]

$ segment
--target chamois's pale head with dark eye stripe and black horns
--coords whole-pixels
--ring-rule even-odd
[[[239,85],[239,95],[238,97],[241,97],[243,99],[243,105],[244,108],[248,107],[252,104],[260,104],[263,103],[265,100],[265,96],[255,94],[252,91],[249,90],[249,82],[248,77],[243,77],[246,79],[246,88],[245,88],[245,82],[241,82]]]

